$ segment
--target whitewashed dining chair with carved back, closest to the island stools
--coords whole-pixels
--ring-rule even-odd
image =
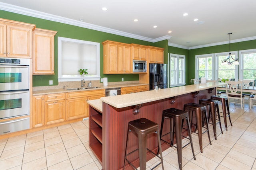
[[[243,109],[244,107],[244,94],[243,94],[243,81],[226,81],[226,94],[228,97],[228,103],[236,103],[237,102],[231,100],[230,99],[234,99],[234,100],[240,100],[240,104],[241,104],[241,109]]]

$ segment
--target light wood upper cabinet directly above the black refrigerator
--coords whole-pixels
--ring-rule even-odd
[[[149,63],[164,63],[164,49],[158,47],[148,47]]]

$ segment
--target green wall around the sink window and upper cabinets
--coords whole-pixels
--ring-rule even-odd
[[[34,18],[30,16],[25,16],[21,14],[16,14],[12,12],[6,12],[0,10],[0,18],[21,21],[25,23],[35,24],[36,27],[42,29],[49,29],[58,31],[55,36],[55,75],[33,75],[33,86],[49,86],[49,80],[53,80],[53,85],[58,85],[58,37],[67,37],[72,39],[80,39],[85,41],[93,41],[100,43],[100,76],[108,77],[109,82],[121,81],[134,81],[139,80],[138,74],[103,74],[103,46],[102,42],[106,40],[118,41],[122,43],[135,43],[140,45],[150,45],[156,47],[165,48],[164,56],[168,56],[168,40],[160,41],[157,43],[151,43],[148,41],[142,41],[138,39],[128,38],[120,35],[115,35],[111,33],[105,33],[101,31],[95,31],[92,29],[87,29],[83,27],[78,27],[74,25],[69,25],[65,23],[59,23],[55,21],[43,20],[40,18]],[[155,45],[156,44],[156,45]]]

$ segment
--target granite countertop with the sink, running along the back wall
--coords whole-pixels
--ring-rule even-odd
[[[82,92],[86,90],[100,90],[100,89],[107,89],[107,88],[121,88],[121,87],[129,87],[129,86],[141,86],[141,85],[148,85],[145,83],[130,83],[130,84],[116,84],[116,85],[109,85],[109,86],[97,86],[98,88],[92,89],[84,89],[84,90],[67,90],[67,89],[48,89],[48,90],[33,90],[33,96],[36,95],[45,95],[45,94],[55,94],[55,93],[68,93],[68,92]],[[76,88],[76,87],[74,87]]]

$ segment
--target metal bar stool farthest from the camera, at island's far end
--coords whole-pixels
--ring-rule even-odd
[[[225,124],[226,131],[227,131],[228,130],[227,117],[229,118],[230,125],[232,126],[231,119],[230,119],[229,105],[228,105],[228,97],[214,95],[214,96],[211,96],[211,99],[212,100],[218,100],[218,101],[221,102],[222,112],[223,112],[222,117],[224,117],[224,124]],[[226,108],[227,108],[228,113],[226,113]]]

